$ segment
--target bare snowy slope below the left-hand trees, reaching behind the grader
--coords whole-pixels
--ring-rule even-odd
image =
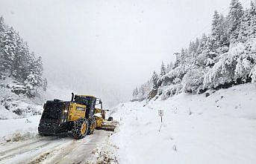
[[[36,97],[29,99],[25,94],[13,93],[13,88],[19,86],[15,82],[11,78],[0,79],[0,119],[17,119],[42,114],[43,103],[46,100],[69,100],[72,93],[69,89],[50,83],[46,91],[42,91]]]

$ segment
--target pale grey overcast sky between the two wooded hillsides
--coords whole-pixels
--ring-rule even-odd
[[[51,84],[102,96],[113,105],[128,99],[191,39],[208,33],[213,11],[227,13],[229,3],[0,0],[0,15],[43,57]]]

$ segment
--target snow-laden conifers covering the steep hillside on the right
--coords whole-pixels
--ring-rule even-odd
[[[134,89],[134,99],[167,99],[256,82],[256,1],[244,9],[231,0],[228,16],[215,11],[210,34],[203,33],[175,56],[175,62],[162,63],[159,75],[154,72],[149,82]]]

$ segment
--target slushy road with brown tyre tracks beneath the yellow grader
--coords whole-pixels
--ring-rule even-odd
[[[22,142],[0,145],[0,163],[86,163],[93,158],[92,151],[106,142],[109,131],[75,140],[72,137],[38,137]]]

